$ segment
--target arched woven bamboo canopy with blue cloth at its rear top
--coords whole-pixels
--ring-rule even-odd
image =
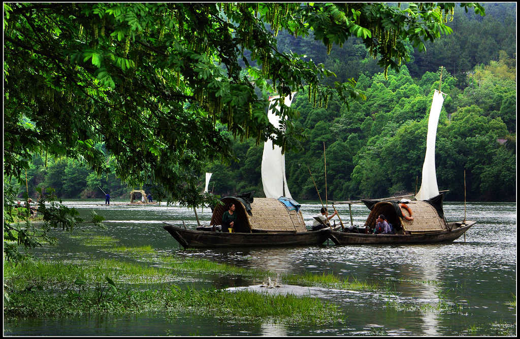
[[[303,232],[305,221],[302,212],[288,211],[283,203],[274,198],[254,198],[251,203],[251,214],[246,212],[244,204],[233,197],[220,199],[224,205],[218,205],[213,210],[211,225],[222,225],[222,216],[229,208],[230,203],[235,204],[237,221],[236,232]]]

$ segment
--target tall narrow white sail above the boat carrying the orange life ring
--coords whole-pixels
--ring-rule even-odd
[[[439,194],[437,187],[437,174],[435,171],[435,138],[437,136],[437,124],[439,122],[440,110],[443,108],[444,97],[435,90],[428,118],[428,134],[426,136],[426,154],[424,156],[421,188],[415,194],[417,200],[428,200]]]

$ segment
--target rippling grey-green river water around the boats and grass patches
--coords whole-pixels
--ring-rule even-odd
[[[20,319],[4,322],[5,335],[514,335],[516,333],[516,204],[445,202],[448,222],[467,220],[477,224],[451,243],[404,245],[347,245],[332,242],[300,247],[184,250],[163,228],[163,221],[195,228],[192,209],[163,205],[124,205],[113,201],[103,205],[95,200],[70,200],[63,204],[77,208],[82,215],[91,210],[103,215],[108,229],[98,236],[118,239],[118,245],[153,249],[178,256],[227,262],[240,267],[277,273],[333,273],[359,281],[390,284],[385,291],[345,291],[305,288],[305,295],[339,305],[347,321],[338,325],[226,323],[192,315],[103,316],[81,319]],[[318,203],[303,203],[308,226],[319,211]],[[348,205],[336,205],[345,224],[350,224]],[[354,225],[362,226],[369,210],[353,205]],[[209,208],[198,209],[202,223],[211,219]],[[337,221],[336,221],[337,222]],[[36,257],[84,259],[114,257],[95,246],[82,246],[72,234],[56,231],[60,240],[54,247],[37,249]],[[247,279],[219,279],[199,283],[204,288],[245,288],[258,284]],[[441,286],[441,289],[440,287]],[[298,293],[299,290],[294,290]],[[439,294],[441,291],[442,294]],[[387,293],[387,292],[386,292]],[[392,301],[394,307],[389,306]],[[415,309],[415,305],[436,305],[446,301],[459,305],[457,311]],[[398,306],[395,306],[398,305]],[[504,328],[509,332],[504,332]],[[476,331],[476,332],[472,332]]]

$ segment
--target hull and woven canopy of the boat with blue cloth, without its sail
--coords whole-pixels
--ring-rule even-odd
[[[192,230],[171,224],[163,226],[183,247],[249,247],[318,245],[327,240],[330,228],[310,231],[305,227],[302,212],[288,208],[274,198],[254,198],[248,204],[240,197],[225,197],[224,205],[214,208],[210,225]],[[230,203],[237,213],[236,232],[213,230],[222,224],[222,215]],[[246,207],[246,205],[249,205]],[[339,226],[333,228],[339,229]]]

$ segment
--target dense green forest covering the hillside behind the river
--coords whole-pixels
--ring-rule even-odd
[[[439,189],[449,189],[447,200],[514,201],[516,194],[516,4],[485,3],[486,16],[464,14],[457,7],[449,26],[453,33],[426,43],[426,53],[413,49],[412,58],[399,73],[385,79],[359,38],[327,47],[313,36],[280,32],[278,48],[322,62],[336,81],[357,81],[366,100],[342,101],[337,95],[327,107],[313,108],[307,93],[298,93],[292,107],[295,121],[307,141],[303,150],[285,153],[286,173],[295,199],[317,199],[306,165],[324,197],[323,142],[327,154],[330,200],[379,198],[413,193],[421,183],[426,147],[427,119],[433,90],[447,94],[437,129],[436,166]],[[347,106],[348,105],[348,106]],[[212,172],[210,189],[228,195],[255,190],[263,195],[260,165],[263,144],[232,140],[237,162],[207,164]],[[96,149],[107,154],[104,144]],[[27,187],[17,184],[19,197],[36,189],[54,188],[61,198],[128,198],[132,188],[112,174],[99,177],[78,161],[34,153],[27,171]],[[200,173],[201,190],[204,174]],[[152,183],[144,189],[154,191]]]

